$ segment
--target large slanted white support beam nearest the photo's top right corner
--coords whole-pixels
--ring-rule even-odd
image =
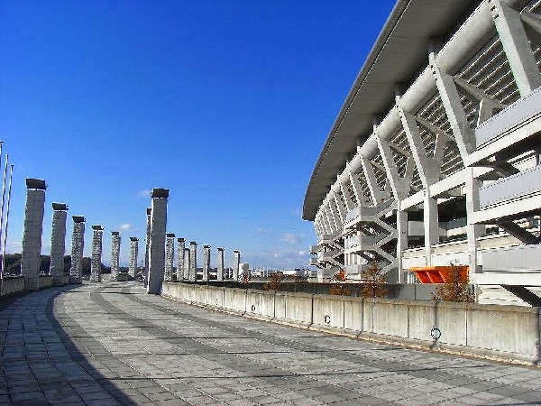
[[[502,0],[490,0],[489,5],[518,91],[525,97],[541,86],[541,76],[520,14]]]

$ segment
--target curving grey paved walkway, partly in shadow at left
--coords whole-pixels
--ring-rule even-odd
[[[0,305],[0,405],[541,404],[541,369],[379,346],[85,283]]]

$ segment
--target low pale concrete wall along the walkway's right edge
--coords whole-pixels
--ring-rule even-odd
[[[539,364],[539,308],[257,291],[163,282],[161,295],[334,334]],[[441,337],[431,336],[433,328]]]

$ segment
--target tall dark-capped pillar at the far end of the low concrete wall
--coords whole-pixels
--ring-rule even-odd
[[[149,284],[147,293],[160,294],[165,272],[165,227],[169,189],[152,189],[151,244],[149,246]]]

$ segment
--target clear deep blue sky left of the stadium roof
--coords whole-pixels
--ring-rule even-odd
[[[149,190],[168,232],[252,266],[307,264],[301,208],[316,159],[394,5],[366,1],[0,0],[0,138],[14,163],[8,252],[25,178],[69,216],[143,238]],[[4,164],[4,157],[3,163]],[[72,223],[69,217],[67,251]],[[141,252],[141,250],[140,250]]]

